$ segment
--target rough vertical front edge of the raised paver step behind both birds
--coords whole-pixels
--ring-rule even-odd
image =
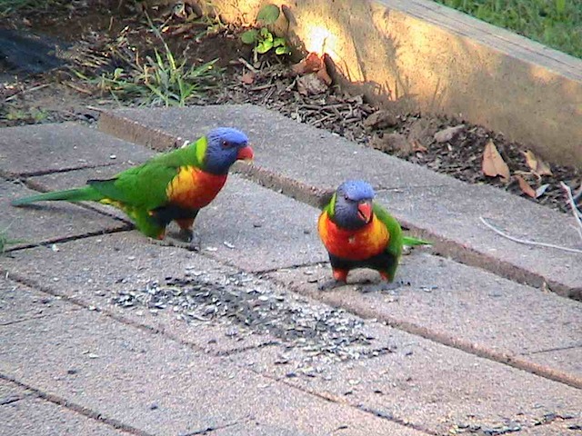
[[[180,136],[167,134],[159,129],[140,124],[135,120],[125,117],[124,114],[104,112],[99,118],[99,130],[105,134],[112,134],[125,141],[143,144],[158,151],[168,150],[180,146],[184,139]],[[249,163],[236,163],[233,167],[235,173],[261,184],[302,203],[322,208],[329,200],[331,193],[316,186],[301,183],[285,175],[276,173],[267,168]],[[503,259],[481,253],[466,244],[451,241],[437,233],[429,233],[416,227],[413,223],[401,220],[401,224],[410,230],[410,233],[428,239],[433,242],[435,253],[450,257],[457,262],[470,266],[483,268],[497,275],[515,282],[526,283],[530,286],[542,288],[546,283],[552,292],[558,295],[582,301],[582,288],[571,287],[565,283],[552,280],[532,269],[525,269]]]

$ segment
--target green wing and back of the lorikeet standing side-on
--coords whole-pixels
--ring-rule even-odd
[[[203,150],[200,150],[203,149]],[[167,203],[166,187],[179,167],[200,167],[206,151],[206,138],[167,154],[160,154],[142,165],[118,173],[109,180],[87,182],[106,198],[126,206],[150,211]]]

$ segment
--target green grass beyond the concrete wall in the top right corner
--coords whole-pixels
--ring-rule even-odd
[[[582,58],[582,0],[435,0]]]

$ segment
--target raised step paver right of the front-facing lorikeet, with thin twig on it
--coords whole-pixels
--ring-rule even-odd
[[[454,187],[387,190],[377,194],[377,201],[407,223],[447,241],[444,253],[455,245],[466,246],[485,253],[479,263],[490,271],[540,287],[548,282],[553,291],[564,295],[577,295],[582,287],[582,271],[576,267],[582,254],[515,243],[479,220],[483,217],[517,238],[577,248],[579,236],[567,215],[490,186],[460,182]],[[467,261],[472,255],[465,255]]]

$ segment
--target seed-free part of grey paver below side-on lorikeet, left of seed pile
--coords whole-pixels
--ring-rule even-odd
[[[86,307],[112,312],[130,322],[146,323],[206,352],[234,352],[274,339],[230,334],[232,322],[197,322],[196,334],[191,334],[173,312],[150,312],[139,305],[125,309],[112,302],[118,292],[165,283],[166,277],[196,278],[202,272],[220,276],[236,273],[235,268],[186,250],[148,243],[136,232],[59,243],[57,248],[56,252],[45,247],[13,252],[10,258],[3,259],[0,270],[35,282],[48,292],[82,302]]]

